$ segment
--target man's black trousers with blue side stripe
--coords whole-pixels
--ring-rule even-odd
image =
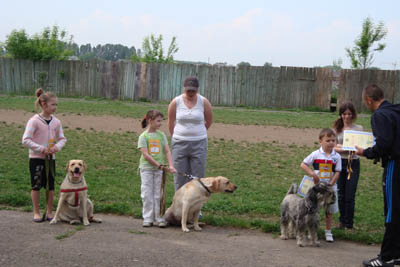
[[[385,234],[381,246],[384,261],[400,258],[400,160],[389,160],[382,177]]]

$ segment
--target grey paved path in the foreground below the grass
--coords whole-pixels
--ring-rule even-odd
[[[361,266],[378,246],[322,241],[298,248],[256,230],[204,226],[142,228],[141,220],[99,214],[102,224],[83,227],[33,223],[32,214],[0,210],[0,266]]]

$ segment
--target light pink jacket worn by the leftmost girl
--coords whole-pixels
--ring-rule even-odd
[[[26,124],[22,136],[22,144],[29,148],[29,158],[44,159],[46,156],[43,152],[47,147],[55,143],[54,147],[58,152],[66,142],[61,122],[54,116],[50,124],[47,124],[39,114],[33,115]]]

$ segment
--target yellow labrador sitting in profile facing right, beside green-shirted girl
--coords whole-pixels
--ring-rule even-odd
[[[201,231],[199,213],[211,193],[233,193],[236,188],[222,176],[193,179],[176,191],[172,205],[165,213],[165,220],[170,224],[181,224],[183,232],[189,232],[187,222],[193,222],[194,230]]]

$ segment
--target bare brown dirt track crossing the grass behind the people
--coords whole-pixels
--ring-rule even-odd
[[[25,124],[33,113],[23,110],[0,109],[0,122]],[[63,127],[70,129],[86,129],[105,132],[133,131],[141,133],[138,119],[113,116],[80,116],[74,114],[57,114]],[[168,133],[167,122],[164,121],[162,131]],[[249,142],[279,142],[313,146],[318,136],[318,129],[285,128],[280,126],[231,125],[215,123],[211,126],[208,135],[213,138]]]

